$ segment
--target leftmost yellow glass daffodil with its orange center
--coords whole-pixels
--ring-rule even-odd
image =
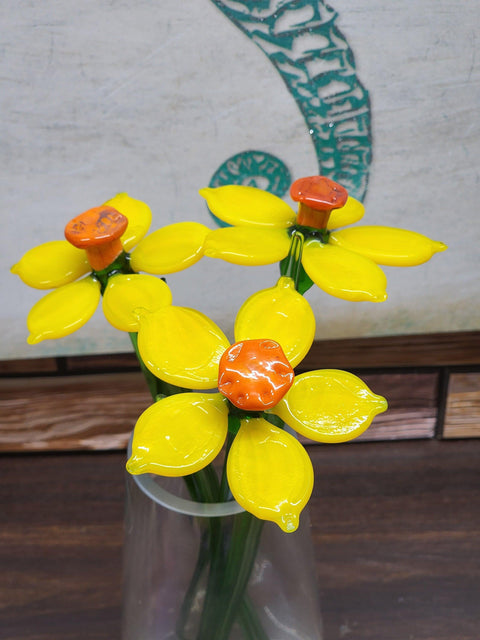
[[[66,240],[27,251],[12,273],[36,289],[54,289],[32,307],[27,342],[73,333],[92,317],[102,293],[105,317],[121,331],[138,330],[140,310],[170,305],[168,286],[154,275],[197,262],[210,230],[196,222],[179,222],[144,237],[151,221],[145,203],[120,193],[71,220]]]

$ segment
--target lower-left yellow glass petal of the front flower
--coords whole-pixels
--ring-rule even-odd
[[[219,393],[179,393],[142,413],[127,471],[184,476],[209,464],[227,435],[228,408]]]

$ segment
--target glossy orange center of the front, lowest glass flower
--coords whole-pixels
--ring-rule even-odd
[[[274,340],[243,340],[220,359],[218,390],[244,411],[264,411],[280,402],[294,372]]]

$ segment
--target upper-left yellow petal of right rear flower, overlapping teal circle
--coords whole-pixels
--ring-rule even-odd
[[[200,189],[214,216],[242,227],[287,228],[295,223],[295,212],[278,196],[242,185]]]

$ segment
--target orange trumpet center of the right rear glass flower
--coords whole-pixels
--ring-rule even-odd
[[[297,222],[304,227],[326,229],[333,209],[343,207],[348,192],[325,176],[299,178],[290,187],[290,196],[299,202]]]

